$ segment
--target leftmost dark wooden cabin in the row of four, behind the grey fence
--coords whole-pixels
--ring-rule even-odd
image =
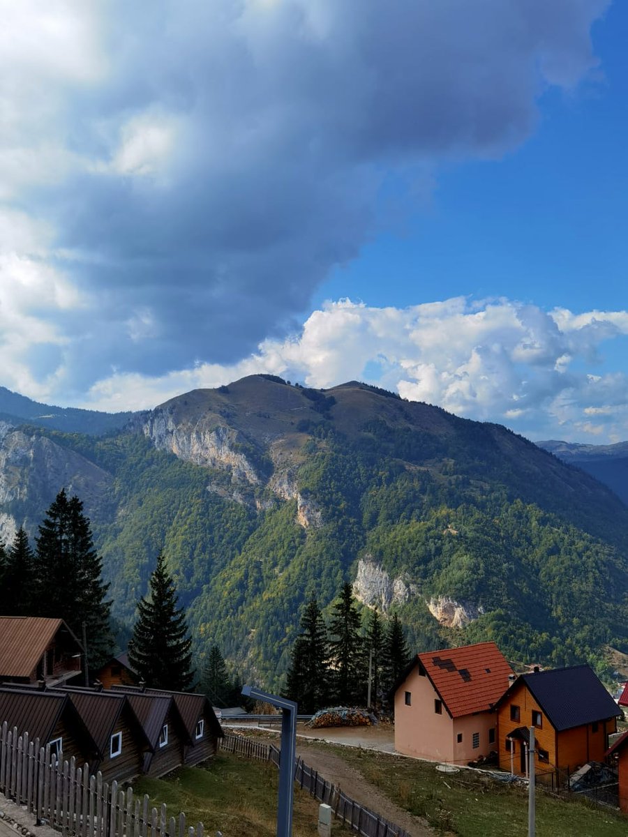
[[[0,687],[0,725],[17,727],[18,735],[28,732],[31,741],[50,746],[51,755],[76,758],[90,766],[98,757],[98,747],[69,696],[35,689]]]

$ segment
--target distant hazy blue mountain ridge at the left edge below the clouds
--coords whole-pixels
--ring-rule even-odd
[[[133,413],[99,413],[74,407],[51,407],[0,387],[0,420],[8,424],[35,424],[67,433],[100,435],[123,427]]]

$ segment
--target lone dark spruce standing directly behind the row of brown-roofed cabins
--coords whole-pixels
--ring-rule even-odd
[[[192,686],[192,640],[166,558],[148,581],[150,596],[137,603],[137,621],[129,643],[129,662],[147,686],[186,691]]]

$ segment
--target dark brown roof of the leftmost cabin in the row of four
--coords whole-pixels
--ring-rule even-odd
[[[88,749],[96,752],[98,747],[69,696],[49,691],[0,689],[0,724],[7,721],[9,727],[18,727],[20,735],[28,732],[31,741],[39,738],[42,747],[49,742],[61,716],[75,727]]]

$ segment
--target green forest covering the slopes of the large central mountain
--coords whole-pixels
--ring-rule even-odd
[[[231,388],[216,398],[228,402]],[[293,479],[321,512],[307,529],[296,500],[267,481],[237,496],[229,470],[180,460],[140,432],[33,431],[111,475],[91,525],[116,619],[131,624],[163,552],[199,665],[216,644],[242,675],[281,689],[306,603],[316,599],[328,622],[370,556],[412,583],[383,623],[396,614],[413,654],[492,639],[509,660],[587,661],[609,675],[605,646],[628,651],[628,510],[610,491],[497,425],[373,388],[350,391],[369,399],[362,412],[342,388],[327,400],[311,392],[296,393],[309,417],[291,429]],[[269,449],[240,439],[267,480]],[[4,511],[28,517],[19,502]],[[438,596],[483,613],[445,628],[427,608]]]

